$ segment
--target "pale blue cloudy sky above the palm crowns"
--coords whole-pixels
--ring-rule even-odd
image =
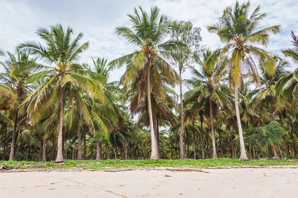
[[[0,0],[0,49],[13,52],[23,41],[38,39],[35,35],[38,27],[61,23],[71,26],[74,34],[83,32],[82,40],[90,41],[81,62],[90,62],[91,56],[112,60],[134,50],[117,37],[115,27],[129,26],[126,14],[133,13],[138,5],[146,10],[158,5],[171,19],[190,20],[202,29],[202,45],[216,49],[221,47],[220,40],[208,33],[206,27],[216,22],[226,6],[234,3],[235,0]],[[251,0],[252,8],[258,4],[267,13],[262,26],[282,26],[281,33],[272,36],[268,46],[269,50],[282,55],[280,49],[291,47],[291,30],[298,33],[295,12],[298,1]],[[124,68],[114,71],[110,81],[118,80],[123,71]],[[189,73],[183,74],[183,78],[188,77]]]

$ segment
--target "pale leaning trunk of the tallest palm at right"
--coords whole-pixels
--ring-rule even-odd
[[[240,112],[239,112],[239,105],[238,105],[238,84],[235,82],[235,110],[236,110],[236,117],[237,117],[237,125],[238,125],[238,131],[239,131],[239,141],[240,141],[240,159],[248,160],[248,157],[246,155],[245,151],[245,145],[243,140],[243,133],[242,133],[242,126],[241,126],[241,120],[240,120]]]

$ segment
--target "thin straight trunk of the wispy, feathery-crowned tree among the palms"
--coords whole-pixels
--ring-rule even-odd
[[[181,128],[179,132],[179,144],[180,144],[180,159],[183,159],[183,131],[184,131],[184,115],[183,115],[183,95],[182,95],[182,67],[179,68],[179,87],[180,87],[180,117]]]

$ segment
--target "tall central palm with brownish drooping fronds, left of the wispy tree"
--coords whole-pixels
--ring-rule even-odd
[[[127,14],[132,22],[132,28],[117,27],[118,35],[124,37],[130,44],[138,49],[128,55],[122,56],[110,62],[113,67],[127,65],[127,69],[120,83],[124,86],[134,84],[138,90],[133,102],[139,102],[147,95],[150,133],[151,133],[151,156],[158,158],[156,138],[153,129],[153,116],[151,109],[151,92],[158,90],[161,95],[162,78],[178,80],[178,75],[171,68],[170,64],[162,58],[177,55],[173,49],[177,49],[177,42],[165,41],[169,30],[169,20],[166,16],[160,15],[157,6],[151,7],[150,13],[139,6],[141,14],[135,8],[135,14]],[[147,92],[146,92],[147,91]]]

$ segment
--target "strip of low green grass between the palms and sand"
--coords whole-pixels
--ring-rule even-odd
[[[0,161],[0,165],[6,165],[13,168],[22,169],[68,169],[68,168],[83,168],[83,169],[105,169],[106,167],[115,168],[138,168],[138,167],[223,167],[235,166],[241,167],[243,165],[251,166],[267,166],[267,165],[296,165],[297,160],[258,160],[252,159],[244,161],[240,159],[218,158],[218,159],[142,159],[142,160],[65,160],[62,164],[56,164],[55,161],[47,162],[32,162],[32,161]]]

